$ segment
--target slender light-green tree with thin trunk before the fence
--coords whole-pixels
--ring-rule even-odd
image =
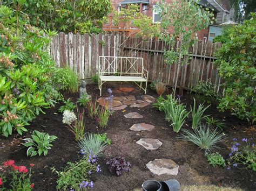
[[[192,0],[173,0],[172,3],[161,1],[159,8],[163,28],[161,39],[171,45],[171,49],[165,52],[166,60],[170,64],[177,63],[178,65],[174,84],[175,94],[180,65],[187,63],[189,59],[184,55],[188,54],[188,47],[196,43],[196,33],[211,23],[213,14],[208,9],[199,6],[198,1]],[[179,44],[176,47],[177,41]]]

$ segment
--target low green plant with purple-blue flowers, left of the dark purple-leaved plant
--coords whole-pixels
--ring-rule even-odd
[[[84,157],[78,162],[68,162],[62,171],[57,171],[52,167],[52,172],[58,175],[57,186],[58,190],[81,190],[80,183],[83,181],[90,182],[90,174],[97,171],[97,165],[88,161],[88,157]],[[92,185],[93,186],[93,185]]]

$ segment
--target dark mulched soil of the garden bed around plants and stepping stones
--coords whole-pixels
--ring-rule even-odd
[[[130,93],[118,91],[119,87],[133,87]],[[134,95],[137,100],[141,100],[143,91],[131,83],[106,83],[103,86],[103,96],[107,96],[107,88],[113,90],[114,96]],[[99,97],[99,90],[95,84],[87,86],[87,93],[93,95],[93,98]],[[148,95],[157,97],[152,90],[147,91]],[[65,94],[65,98],[70,98],[73,102],[77,101],[79,94]],[[192,95],[187,94],[181,97],[181,102],[187,104],[187,109],[192,104]],[[78,152],[76,141],[71,131],[62,123],[62,114],[56,108],[44,110],[45,114],[39,115],[28,126],[28,133],[23,136],[10,136],[9,138],[0,137],[0,161],[14,159],[19,165],[35,164],[32,181],[35,183],[35,190],[56,190],[57,175],[51,172],[51,167],[58,170],[65,167],[69,161],[76,161],[81,156]],[[125,111],[124,111],[125,110]],[[107,146],[104,156],[99,158],[99,164],[102,166],[100,174],[93,174],[92,180],[95,181],[95,190],[131,190],[140,188],[145,180],[168,180],[177,179],[181,185],[217,185],[240,187],[245,190],[256,189],[255,172],[246,169],[231,168],[229,171],[222,167],[213,167],[208,164],[204,151],[200,151],[196,145],[184,142],[179,139],[180,133],[173,132],[169,126],[170,123],[165,121],[164,112],[158,111],[151,105],[144,108],[130,108],[115,111],[110,117],[106,128],[97,128],[98,124],[95,119],[86,117],[86,132],[107,133],[107,137],[112,140],[111,145]],[[86,109],[85,109],[86,111]],[[128,119],[124,114],[128,112],[138,112],[143,118]],[[86,111],[87,114],[87,111]],[[214,105],[206,110],[207,115],[212,115],[218,119],[225,120],[226,127],[224,133],[228,135],[225,143],[220,144],[223,148],[220,154],[224,158],[228,157],[232,138],[255,138],[255,129],[249,126],[245,121],[240,121],[237,117],[228,112],[218,112]],[[136,123],[148,123],[155,126],[152,131],[131,131],[129,128]],[[187,126],[191,126],[191,116],[186,120]],[[50,135],[58,137],[53,142],[53,147],[46,157],[27,157],[26,147],[22,146],[22,140],[30,137],[33,130],[48,132]],[[155,151],[147,151],[142,146],[136,144],[140,138],[157,138],[163,145]],[[110,173],[105,165],[106,160],[123,155],[132,165],[129,173],[122,176],[116,176]],[[177,176],[172,175],[154,175],[146,168],[146,164],[157,158],[172,159],[179,165]],[[4,168],[0,168],[0,173]]]

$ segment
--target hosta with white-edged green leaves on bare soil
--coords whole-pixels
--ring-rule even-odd
[[[32,138],[25,138],[23,140],[26,141],[23,145],[26,147],[29,147],[26,151],[26,155],[30,155],[30,157],[33,157],[39,154],[39,156],[44,153],[46,156],[48,154],[48,150],[51,149],[52,144],[55,139],[57,139],[56,136],[49,136],[49,134],[44,132],[39,132],[37,130],[34,130],[31,135]]]

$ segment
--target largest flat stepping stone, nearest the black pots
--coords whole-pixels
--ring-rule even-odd
[[[179,171],[179,165],[171,159],[154,159],[147,163],[146,166],[153,174],[157,175],[177,175]]]

